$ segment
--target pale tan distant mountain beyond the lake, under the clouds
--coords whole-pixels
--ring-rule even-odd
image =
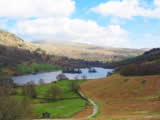
[[[50,54],[87,61],[120,61],[141,55],[146,51],[146,49],[111,48],[56,40],[40,40],[33,43]]]

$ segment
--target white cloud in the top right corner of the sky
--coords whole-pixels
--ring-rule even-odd
[[[160,18],[160,0],[154,0],[155,9],[143,8],[140,0],[117,0],[102,3],[92,11],[100,13],[103,16],[116,16],[120,18],[131,19],[134,16],[143,16],[151,18]]]

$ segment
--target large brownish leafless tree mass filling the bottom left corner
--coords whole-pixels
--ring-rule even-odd
[[[10,89],[0,86],[0,120],[31,120],[29,102],[13,98],[9,93]]]

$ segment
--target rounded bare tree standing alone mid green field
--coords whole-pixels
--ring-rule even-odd
[[[63,98],[63,96],[64,96],[64,94],[63,94],[62,90],[57,85],[52,86],[48,90],[47,95],[46,95],[46,97],[48,99],[51,99],[54,101]]]

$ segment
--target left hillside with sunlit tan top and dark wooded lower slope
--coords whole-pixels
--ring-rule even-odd
[[[48,54],[45,50],[31,43],[24,42],[14,34],[0,31],[0,72],[14,71],[18,64],[29,66],[31,64],[48,63],[55,66],[87,67],[101,66],[99,62],[69,59]],[[9,69],[8,69],[9,68]],[[14,72],[11,72],[14,73]]]

